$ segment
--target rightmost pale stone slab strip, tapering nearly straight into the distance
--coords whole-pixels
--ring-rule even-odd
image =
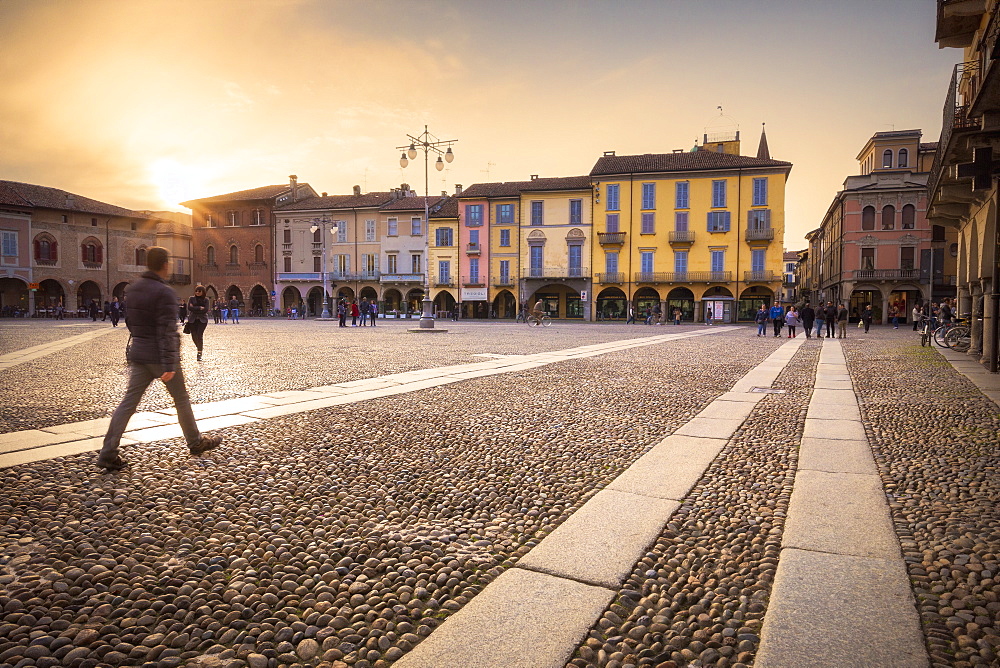
[[[754,665],[927,666],[920,620],[839,341],[823,345]]]

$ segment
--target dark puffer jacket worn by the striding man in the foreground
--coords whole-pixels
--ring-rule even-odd
[[[177,333],[177,294],[159,274],[147,271],[125,288],[128,311],[125,324],[132,333],[130,362],[159,364],[163,372],[176,371],[180,361]]]

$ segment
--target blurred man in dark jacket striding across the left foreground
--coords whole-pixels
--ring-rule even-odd
[[[170,276],[169,260],[170,252],[166,248],[149,248],[146,251],[149,271],[125,288],[128,299],[125,325],[132,334],[132,345],[126,348],[125,353],[129,366],[128,388],[111,416],[104,447],[97,456],[97,465],[111,473],[128,466],[119,456],[118,446],[146,388],[157,378],[163,381],[173,397],[177,420],[192,455],[200,455],[222,442],[221,436],[204,436],[198,431],[191,410],[180,365],[177,295],[166,283]]]

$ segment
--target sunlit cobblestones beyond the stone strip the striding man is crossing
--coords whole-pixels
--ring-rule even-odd
[[[110,322],[0,321],[4,346],[25,345],[110,328]],[[61,326],[69,322],[73,326]],[[29,327],[20,327],[27,323]],[[4,326],[6,325],[6,326]],[[209,323],[204,361],[195,360],[191,338],[182,337],[182,368],[193,403],[219,401],[279,390],[301,390],[383,374],[481,361],[476,354],[516,355],[602,343],[622,338],[693,329],[693,326],[585,325],[556,323],[544,331],[526,325],[440,321],[447,334],[410,334],[413,320],[380,321],[376,327],[286,319],[247,319],[239,325]],[[17,402],[0,405],[0,433],[37,429],[105,417],[125,392],[128,380],[125,343],[128,331],[102,336],[0,374],[0,396]],[[436,336],[446,336],[442,346]],[[10,351],[7,351],[10,352]],[[166,390],[154,384],[140,411],[172,406]]]

